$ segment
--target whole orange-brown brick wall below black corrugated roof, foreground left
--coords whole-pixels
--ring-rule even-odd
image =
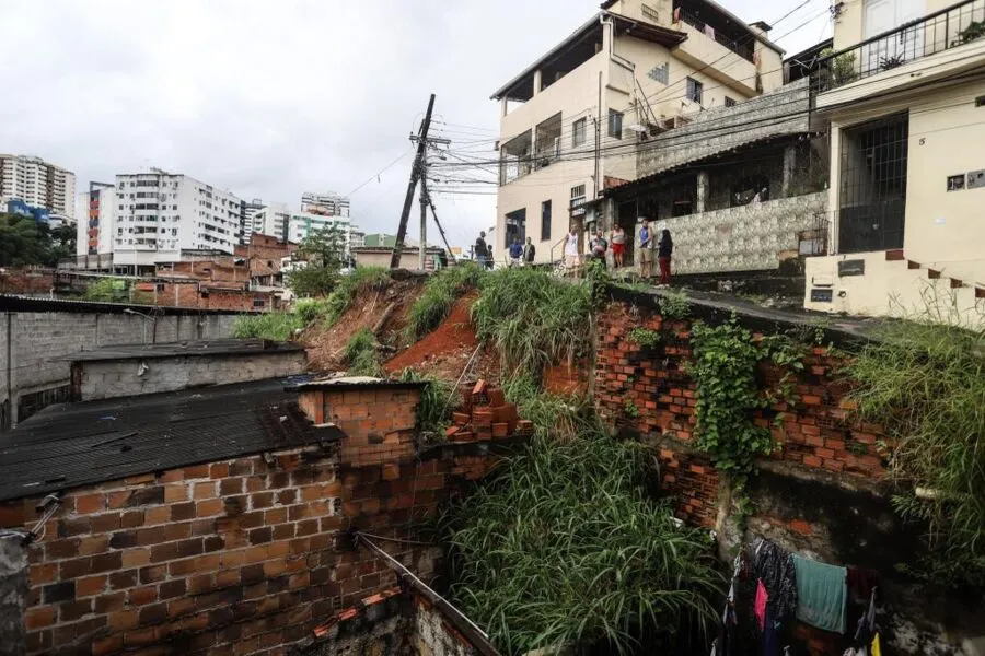
[[[345,529],[421,540],[412,519],[434,517],[496,461],[461,454],[356,466],[291,450],[72,490],[30,548],[28,653],[283,654],[395,584]],[[32,525],[38,501],[0,504],[0,527]],[[441,557],[380,546],[424,581]]]

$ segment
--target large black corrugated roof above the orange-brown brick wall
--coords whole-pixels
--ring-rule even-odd
[[[0,434],[0,501],[340,437],[298,408],[299,382],[50,406]]]

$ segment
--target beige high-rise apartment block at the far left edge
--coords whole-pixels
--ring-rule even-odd
[[[0,154],[0,206],[22,200],[76,219],[76,174],[30,155]]]

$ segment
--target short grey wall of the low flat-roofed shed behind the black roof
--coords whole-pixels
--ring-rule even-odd
[[[76,366],[82,372],[79,400],[93,401],[201,385],[281,378],[303,373],[306,364],[304,351],[275,351],[250,355],[86,361]]]

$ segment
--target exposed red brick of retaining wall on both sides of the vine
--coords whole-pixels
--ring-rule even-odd
[[[634,328],[662,335],[662,343],[642,349],[629,338]],[[664,323],[648,308],[612,303],[599,315],[599,353],[595,398],[612,423],[665,442],[660,452],[664,484],[680,497],[682,518],[710,526],[715,523],[718,477],[707,457],[695,453],[697,403],[695,382],[684,371],[691,356],[690,321]],[[879,426],[850,418],[847,385],[835,373],[844,356],[814,348],[796,375],[792,407],[779,405],[761,413],[756,422],[772,427],[780,448],[770,458],[795,468],[838,472],[855,479],[884,473],[876,443]],[[783,372],[762,365],[764,389]],[[783,412],[780,426],[773,425]],[[634,417],[634,414],[636,414]]]

